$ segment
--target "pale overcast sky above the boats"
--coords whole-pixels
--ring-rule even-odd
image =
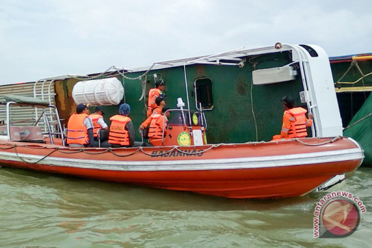
[[[135,68],[243,46],[372,52],[371,0],[3,0],[0,84]]]

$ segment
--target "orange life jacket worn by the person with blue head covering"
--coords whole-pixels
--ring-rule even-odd
[[[116,145],[130,145],[129,144],[129,134],[125,130],[126,123],[131,121],[128,116],[114,115],[110,118],[110,133],[109,133],[109,143]]]

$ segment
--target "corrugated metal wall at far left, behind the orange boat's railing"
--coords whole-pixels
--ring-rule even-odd
[[[5,102],[4,95],[15,94],[20,96],[30,96],[33,97],[33,86],[34,82],[22,83],[22,84],[11,84],[0,86],[0,102]],[[38,83],[36,87],[36,93],[41,94],[41,89],[44,88],[44,99],[48,100],[48,87],[49,82],[42,86],[42,83]],[[36,98],[42,99],[42,96],[38,95]],[[51,85],[51,103],[55,104],[55,91],[54,83]],[[40,115],[41,109],[38,108],[38,114]],[[30,120],[31,119],[31,120]],[[0,105],[0,120],[6,120],[5,106]],[[25,122],[20,122],[21,120],[27,120]],[[25,126],[34,125],[36,121],[35,108],[34,107],[11,107],[10,108],[10,123],[15,126]]]

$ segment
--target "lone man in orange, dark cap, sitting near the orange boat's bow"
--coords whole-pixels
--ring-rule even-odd
[[[313,115],[309,114],[309,119],[307,119],[305,116],[307,110],[302,107],[294,107],[294,100],[288,96],[283,97],[282,101],[285,108],[282,130],[280,135],[273,136],[273,140],[306,137],[306,127],[312,125]]]

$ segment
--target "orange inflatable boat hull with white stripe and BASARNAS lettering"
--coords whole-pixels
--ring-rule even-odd
[[[360,146],[343,137],[116,149],[0,142],[7,167],[231,198],[300,196],[362,160]]]

